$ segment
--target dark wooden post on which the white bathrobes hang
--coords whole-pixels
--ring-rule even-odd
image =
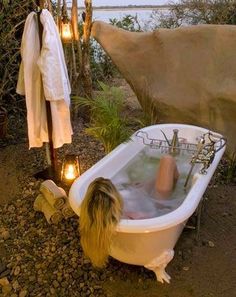
[[[40,9],[43,9],[46,7],[49,10],[51,9],[50,0],[39,0],[39,1],[36,1],[36,4],[38,5],[38,7],[40,7]],[[41,10],[38,11],[39,42],[40,42],[40,50],[41,50],[42,37],[43,37],[43,26],[40,22],[40,14],[41,14]],[[42,80],[41,80],[41,83],[42,83]],[[43,88],[42,88],[42,91],[43,91]],[[47,162],[48,162],[49,168],[47,168],[43,172],[37,173],[35,176],[48,179],[48,178],[56,178],[57,154],[56,154],[56,150],[53,147],[53,140],[52,140],[53,127],[52,127],[51,106],[50,106],[50,102],[48,100],[45,99],[45,101],[46,101],[46,115],[47,115],[48,139],[49,139],[49,143],[48,143],[49,149],[46,146],[46,155],[47,155],[47,159],[48,159]],[[48,156],[48,151],[49,151],[49,156]]]

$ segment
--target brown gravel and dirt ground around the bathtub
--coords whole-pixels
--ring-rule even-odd
[[[0,149],[0,156],[10,155],[15,165],[14,171],[8,170],[9,159],[0,159],[1,168],[6,172],[2,179],[6,183],[17,175],[14,186],[18,189],[0,206],[0,296],[236,296],[232,272],[236,264],[232,260],[235,259],[236,205],[231,198],[236,193],[235,185],[223,188],[212,185],[208,189],[205,200],[209,211],[203,215],[201,238],[196,241],[195,230],[183,232],[175,249],[176,256],[167,269],[173,275],[172,283],[162,285],[156,282],[153,272],[114,259],[110,259],[105,269],[94,269],[81,250],[76,216],[54,226],[46,222],[42,213],[35,212],[33,202],[41,181],[36,180],[33,173],[45,165],[44,151],[29,151],[26,138],[21,138],[22,143],[13,139],[10,137]],[[84,125],[79,121],[74,126],[73,146],[59,149],[59,159],[64,153],[80,155],[82,172],[104,156],[102,146],[84,134]],[[4,195],[10,187],[11,184]],[[216,232],[219,226],[214,224],[218,219],[223,220],[226,230]],[[224,238],[222,243],[218,235]],[[225,248],[228,239],[232,246],[228,244]],[[222,253],[226,259],[221,263]],[[219,275],[214,273],[215,266]]]

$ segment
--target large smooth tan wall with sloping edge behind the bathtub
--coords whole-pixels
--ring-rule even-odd
[[[236,26],[143,33],[96,21],[92,36],[159,123],[218,131],[236,149]]]

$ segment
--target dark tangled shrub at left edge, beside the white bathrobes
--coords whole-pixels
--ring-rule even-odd
[[[10,112],[22,112],[22,98],[16,94],[20,43],[26,16],[35,7],[29,0],[0,1],[0,105]]]

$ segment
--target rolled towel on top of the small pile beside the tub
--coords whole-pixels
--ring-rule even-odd
[[[39,190],[48,203],[56,209],[62,209],[66,203],[66,194],[50,179],[42,182]]]

